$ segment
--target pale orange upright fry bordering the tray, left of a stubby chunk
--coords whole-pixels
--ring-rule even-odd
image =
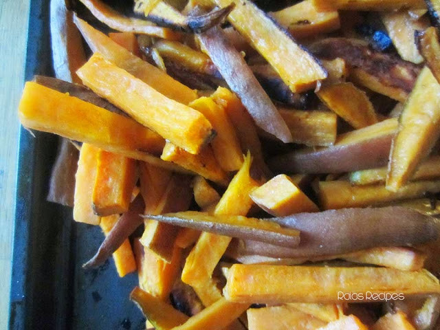
[[[83,143],[75,176],[74,220],[99,225],[100,217],[92,208],[92,194],[96,179],[96,163],[99,148]]]

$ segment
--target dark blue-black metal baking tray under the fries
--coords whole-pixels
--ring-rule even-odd
[[[53,74],[49,8],[50,0],[30,1],[25,80]],[[35,135],[20,131],[10,329],[144,329],[129,300],[136,274],[119,278],[113,260],[82,269],[104,236],[98,226],[72,221],[70,208],[46,201],[58,139]]]

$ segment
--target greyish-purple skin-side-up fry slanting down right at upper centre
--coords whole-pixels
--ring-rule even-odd
[[[223,31],[215,27],[199,34],[198,39],[203,52],[210,56],[221,76],[230,89],[239,96],[256,125],[283,142],[292,141],[283,118],[265,94],[243,56],[226,39]]]

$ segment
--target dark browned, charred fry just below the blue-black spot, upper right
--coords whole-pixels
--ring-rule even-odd
[[[314,43],[310,49],[320,58],[343,58],[351,67],[349,80],[401,102],[412,91],[420,72],[414,63],[375,52],[353,39],[327,38]]]

